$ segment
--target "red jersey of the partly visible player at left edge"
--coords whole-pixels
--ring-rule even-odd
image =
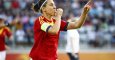
[[[0,51],[5,50],[5,37],[11,36],[11,31],[8,27],[0,28]]]

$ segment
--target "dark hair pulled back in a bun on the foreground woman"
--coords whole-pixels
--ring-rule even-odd
[[[35,12],[41,12],[42,13],[42,10],[41,10],[41,7],[46,7],[46,2],[47,0],[40,0],[38,1],[36,4],[32,4],[32,9],[35,11]]]

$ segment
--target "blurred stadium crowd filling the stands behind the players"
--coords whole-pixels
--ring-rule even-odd
[[[0,0],[0,16],[5,18],[14,34],[16,45],[33,43],[33,24],[39,15],[31,9],[33,0]],[[56,6],[64,9],[62,19],[71,15],[78,17],[87,0],[55,0]],[[111,44],[115,47],[115,0],[94,0],[89,16],[79,29],[81,42],[101,47]],[[63,37],[62,37],[63,38]]]

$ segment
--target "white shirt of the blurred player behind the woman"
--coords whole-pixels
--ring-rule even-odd
[[[77,30],[67,30],[66,52],[79,52],[79,33]]]

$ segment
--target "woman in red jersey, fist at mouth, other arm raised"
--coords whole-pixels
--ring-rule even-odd
[[[65,22],[61,20],[63,10],[56,9],[53,0],[39,0],[33,10],[41,12],[34,22],[34,45],[30,52],[32,60],[56,60],[60,31],[80,28],[90,10],[90,1],[84,6],[80,20]]]

